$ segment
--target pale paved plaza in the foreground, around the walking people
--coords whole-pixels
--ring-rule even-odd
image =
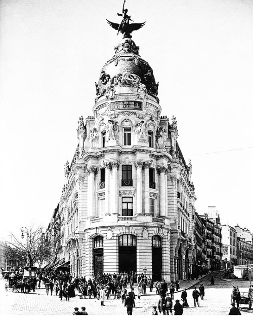
[[[209,276],[202,280],[206,292],[203,301],[200,300],[200,307],[193,307],[192,289],[187,290],[189,308],[184,309],[184,315],[222,315],[228,314],[231,301],[232,285],[238,285],[240,291],[247,291],[248,281],[226,281],[216,280],[215,286],[210,286]],[[184,287],[193,287],[196,281],[184,282]],[[126,309],[121,300],[115,300],[113,297],[105,301],[105,306],[100,306],[97,299],[79,299],[71,298],[69,302],[65,299],[60,301],[59,297],[47,296],[45,288],[36,290],[35,293],[18,294],[8,292],[4,289],[5,281],[0,281],[0,314],[1,315],[72,315],[74,307],[85,306],[89,315],[127,315]],[[197,285],[198,286],[198,285]],[[135,288],[135,293],[137,290]],[[173,304],[176,299],[180,299],[181,292],[175,293]],[[151,315],[152,305],[157,305],[159,296],[147,290],[147,295],[142,296],[140,300],[136,299],[136,308],[133,310],[134,315]],[[182,301],[181,301],[182,302]],[[242,314],[252,313],[253,310],[243,308]]]

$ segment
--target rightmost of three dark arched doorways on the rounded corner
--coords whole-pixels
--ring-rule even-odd
[[[161,237],[152,236],[152,279],[161,280],[162,253],[161,253]]]

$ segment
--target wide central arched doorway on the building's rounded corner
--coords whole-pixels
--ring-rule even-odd
[[[118,237],[118,271],[137,271],[136,236],[133,234]]]

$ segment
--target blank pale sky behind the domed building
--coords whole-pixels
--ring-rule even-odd
[[[140,55],[159,81],[161,115],[176,116],[192,161],[199,214],[253,231],[253,3],[126,0]],[[121,40],[121,0],[0,1],[0,238],[47,227],[77,146],[78,118],[93,115],[95,82]]]

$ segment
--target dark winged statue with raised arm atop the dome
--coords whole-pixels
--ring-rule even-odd
[[[143,27],[143,25],[146,22],[143,22],[143,23],[129,23],[129,21],[133,21],[133,20],[131,19],[131,16],[128,15],[128,9],[124,9],[124,5],[125,5],[125,0],[124,0],[124,3],[123,3],[122,14],[121,13],[117,14],[118,16],[122,16],[123,17],[123,19],[120,22],[120,24],[111,22],[111,21],[109,21],[107,19],[106,19],[106,21],[109,23],[109,25],[112,28],[114,28],[115,30],[118,31],[117,35],[120,32],[120,33],[123,34],[123,38],[130,38],[131,39],[132,38],[131,33],[133,31],[139,30],[141,27]]]

